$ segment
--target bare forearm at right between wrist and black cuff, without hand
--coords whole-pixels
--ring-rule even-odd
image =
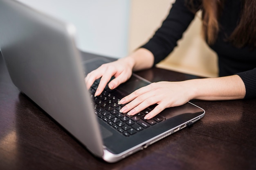
[[[191,88],[191,99],[234,100],[245,97],[245,84],[238,75],[184,81]]]

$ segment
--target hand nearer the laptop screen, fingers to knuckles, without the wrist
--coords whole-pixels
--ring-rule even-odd
[[[134,65],[135,61],[130,57],[121,58],[117,61],[103,64],[96,70],[87,74],[85,77],[86,87],[89,89],[95,80],[101,78],[98,88],[94,94],[94,96],[99,96],[112,76],[114,76],[115,78],[108,83],[108,87],[110,89],[115,89],[121,83],[124,83],[130,78]]]

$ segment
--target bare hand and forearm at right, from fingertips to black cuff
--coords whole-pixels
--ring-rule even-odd
[[[135,115],[150,105],[158,104],[145,116],[145,119],[151,119],[165,108],[183,105],[191,99],[243,99],[245,92],[245,84],[238,75],[179,82],[161,81],[137,89],[122,98],[119,104],[128,104],[120,112]]]

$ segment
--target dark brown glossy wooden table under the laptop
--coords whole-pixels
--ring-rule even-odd
[[[152,82],[198,78],[159,68],[138,74]],[[255,170],[256,100],[193,103],[206,114],[191,128],[106,163],[20,94],[0,57],[0,170]]]

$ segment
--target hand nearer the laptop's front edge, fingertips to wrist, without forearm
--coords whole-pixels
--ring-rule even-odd
[[[157,104],[157,106],[145,116],[145,119],[151,119],[168,107],[185,104],[192,99],[190,96],[192,96],[191,89],[188,88],[186,81],[160,81],[151,83],[122,98],[119,104],[128,104],[125,105],[120,112],[128,112],[128,115],[133,116],[150,105]]]

